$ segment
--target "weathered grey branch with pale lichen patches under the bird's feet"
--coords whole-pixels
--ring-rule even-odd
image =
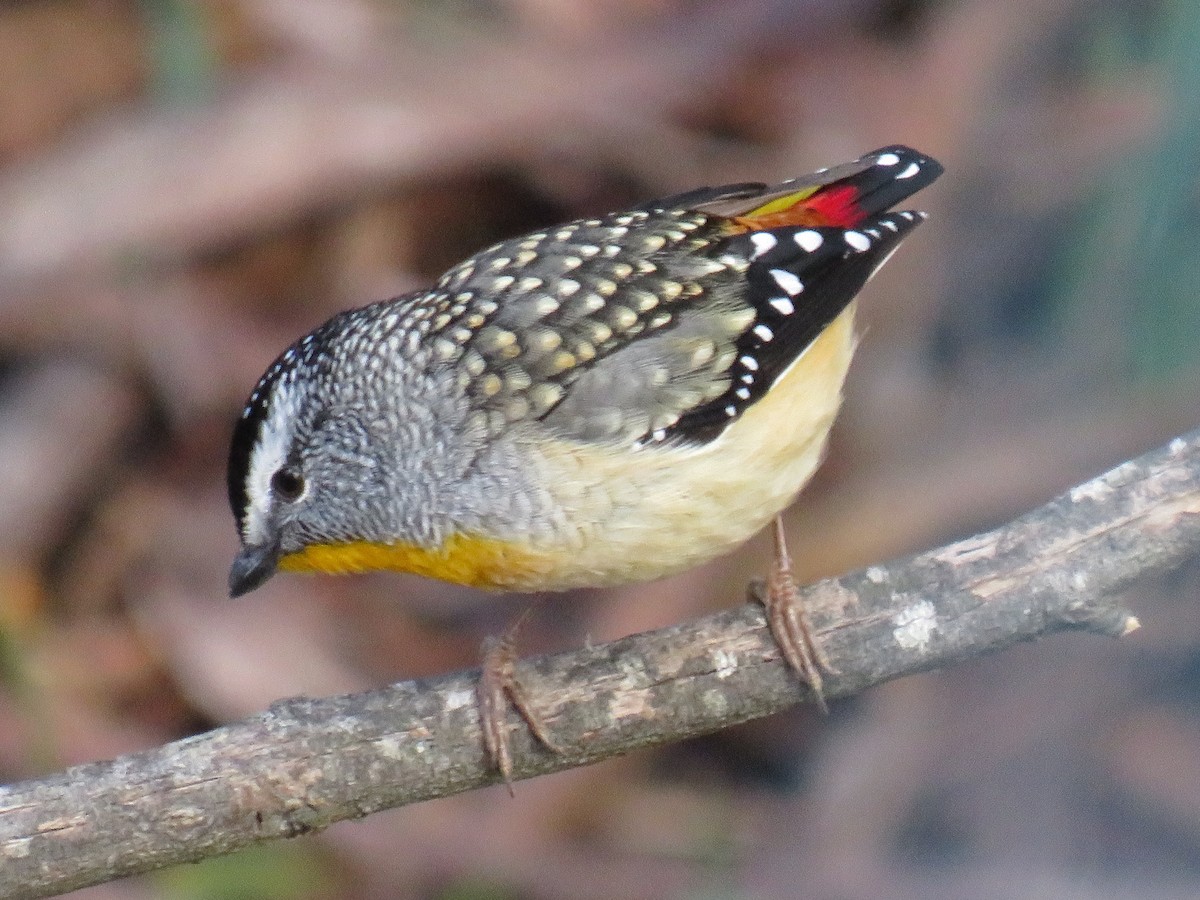
[[[830,697],[1062,630],[1120,636],[1112,599],[1200,550],[1200,431],[994,532],[805,589]],[[515,727],[517,778],[768,715],[806,689],[762,610],[521,667],[562,755]],[[37,898],[228,853],[496,780],[478,672],[295,698],[205,734],[0,788],[0,896]]]

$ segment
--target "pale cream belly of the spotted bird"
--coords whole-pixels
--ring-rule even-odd
[[[494,587],[560,590],[650,581],[726,553],[787,506],[821,463],[854,352],[851,304],[716,440],[544,449],[562,526],[523,547],[536,575]],[[532,580],[530,580],[532,577]]]

